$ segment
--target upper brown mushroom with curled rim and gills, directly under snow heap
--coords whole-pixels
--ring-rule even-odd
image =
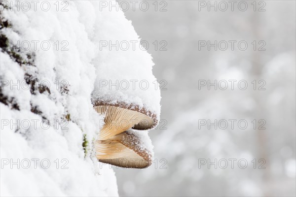
[[[99,134],[100,140],[109,139],[130,128],[148,130],[157,125],[156,114],[147,111],[145,108],[139,108],[137,105],[95,102],[94,109],[99,114],[105,114],[105,125]]]

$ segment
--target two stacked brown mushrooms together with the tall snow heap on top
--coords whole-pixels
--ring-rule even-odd
[[[105,122],[95,142],[96,157],[121,167],[148,167],[153,151],[146,131],[159,122],[161,99],[152,56],[143,50],[140,36],[122,10],[100,10],[91,29],[91,39],[100,43],[91,61],[96,77],[91,101]],[[126,40],[133,40],[135,47],[118,44]]]

